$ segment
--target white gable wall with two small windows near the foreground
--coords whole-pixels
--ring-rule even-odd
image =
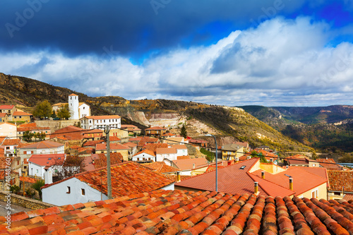
[[[70,193],[66,193],[67,187],[71,188]],[[81,188],[85,189],[85,195],[81,195]],[[95,188],[88,186],[76,178],[71,178],[61,183],[54,184],[42,189],[44,203],[53,205],[68,205],[76,203],[88,203],[89,201],[101,200],[101,193]],[[107,195],[102,194],[102,200],[107,200]]]

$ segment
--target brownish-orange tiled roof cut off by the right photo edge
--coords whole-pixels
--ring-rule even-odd
[[[328,170],[328,180],[330,181],[329,191],[342,191],[353,193],[353,171],[330,171]]]

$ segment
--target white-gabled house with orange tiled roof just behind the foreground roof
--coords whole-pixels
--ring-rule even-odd
[[[112,197],[158,189],[174,190],[174,181],[135,162],[111,167]],[[54,205],[107,200],[107,167],[85,171],[42,187],[43,202]]]

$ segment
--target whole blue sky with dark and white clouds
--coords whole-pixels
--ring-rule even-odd
[[[2,0],[0,72],[91,97],[353,105],[353,1]]]

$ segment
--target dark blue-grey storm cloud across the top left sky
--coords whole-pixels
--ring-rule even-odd
[[[302,1],[49,1],[0,3],[0,47],[59,49],[65,54],[140,54],[216,42],[237,28],[291,12]],[[276,10],[277,8],[277,10]],[[222,28],[222,30],[219,30]]]

